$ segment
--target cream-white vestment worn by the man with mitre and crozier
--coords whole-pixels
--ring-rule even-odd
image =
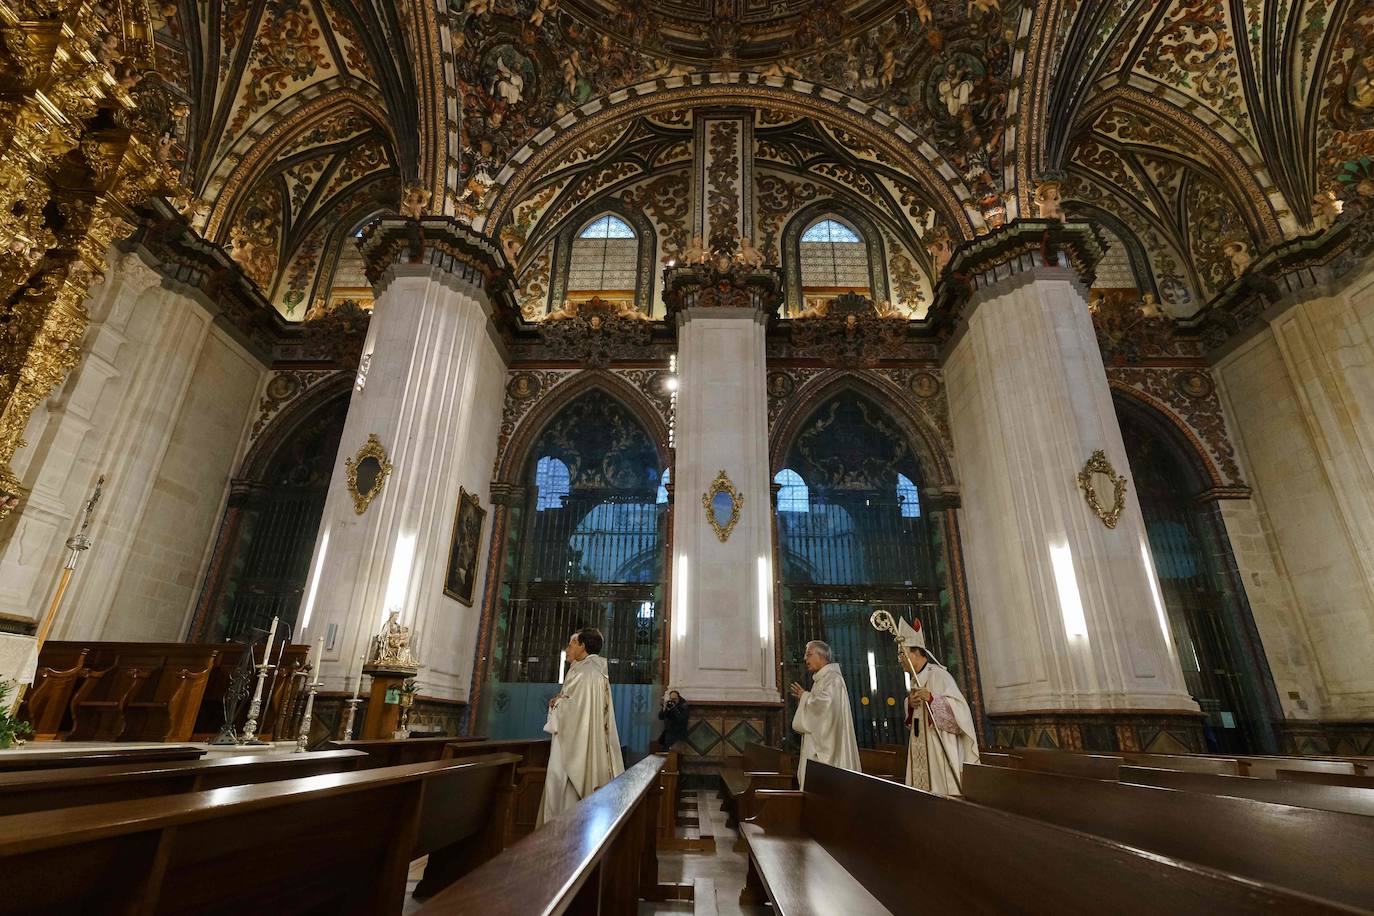
[[[959,795],[959,781],[965,764],[978,762],[978,740],[974,737],[973,713],[959,692],[959,685],[945,669],[934,662],[916,674],[914,687],[930,691],[930,709],[908,702],[911,714],[911,742],[907,746],[907,786],[923,788],[936,795]]]

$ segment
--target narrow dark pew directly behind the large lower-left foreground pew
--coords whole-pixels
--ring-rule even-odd
[[[0,816],[201,792],[224,786],[253,786],[320,773],[348,773],[363,759],[367,759],[363,751],[246,754],[0,773]]]

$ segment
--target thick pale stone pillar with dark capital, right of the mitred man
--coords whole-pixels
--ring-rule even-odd
[[[1190,699],[1112,407],[1083,277],[1085,225],[1024,221],[965,246],[937,308],[959,314],[945,382],[988,713],[1190,721]],[[1125,478],[1114,527],[1077,474],[1103,450]],[[1113,488],[1096,481],[1110,505]],[[1180,718],[1182,717],[1182,718]],[[1120,726],[1118,726],[1118,735]],[[1123,739],[1123,744],[1127,744]]]

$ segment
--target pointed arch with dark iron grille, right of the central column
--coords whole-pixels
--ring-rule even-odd
[[[886,413],[841,393],[807,420],[776,475],[783,683],[809,684],[807,643],[830,644],[864,747],[903,743],[905,680],[870,615],[919,619],[930,651],[958,676],[958,640],[915,456]],[[796,739],[796,736],[793,736]]]

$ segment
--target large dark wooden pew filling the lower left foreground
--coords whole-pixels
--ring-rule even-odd
[[[0,915],[401,912],[409,862],[482,846],[514,759],[431,762],[0,817]],[[477,842],[474,843],[474,838]]]

